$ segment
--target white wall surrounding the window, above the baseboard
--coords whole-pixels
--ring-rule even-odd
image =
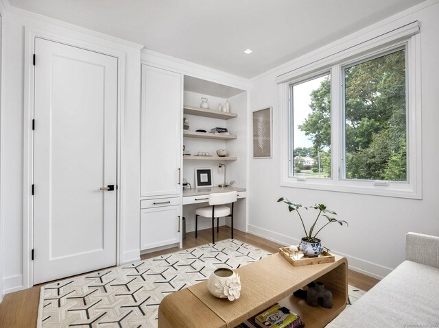
[[[349,194],[321,190],[307,190],[280,186],[281,170],[281,113],[279,112],[278,86],[275,78],[287,73],[309,55],[330,53],[348,36],[333,44],[278,67],[252,80],[250,109],[273,106],[274,154],[270,160],[250,157],[249,181],[249,231],[285,244],[297,243],[303,236],[297,217],[290,214],[279,197],[313,205],[324,203],[347,220],[349,227],[329,225],[320,233],[324,245],[348,257],[351,267],[375,277],[383,277],[404,260],[405,234],[416,231],[439,236],[437,211],[439,175],[439,4],[427,1],[428,8],[407,10],[394,17],[368,27],[367,31],[387,23],[404,25],[420,21],[420,47],[422,65],[422,154],[423,199],[399,199],[364,194]],[[425,5],[422,5],[425,7]],[[360,35],[363,32],[355,33]],[[249,132],[250,133],[250,132]],[[251,145],[250,145],[251,147]],[[251,154],[251,149],[249,149]]]

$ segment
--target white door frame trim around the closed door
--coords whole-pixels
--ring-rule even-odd
[[[117,58],[117,188],[116,190],[116,265],[120,265],[123,252],[123,225],[121,224],[123,194],[121,190],[121,145],[123,144],[123,113],[124,113],[124,90],[125,90],[125,53],[117,49],[108,49],[99,43],[89,43],[78,38],[69,38],[53,34],[49,31],[30,29],[25,27],[25,62],[24,62],[24,101],[23,101],[23,288],[34,286],[34,270],[32,263],[32,248],[34,245],[33,212],[34,204],[32,197],[32,181],[34,181],[34,135],[32,134],[32,118],[34,117],[34,65],[32,64],[35,38],[64,43],[103,53]],[[115,44],[116,45],[116,44]],[[117,45],[115,46],[117,47]],[[36,58],[38,64],[38,58]],[[38,129],[38,122],[36,122]],[[36,186],[38,192],[38,186]],[[38,251],[36,251],[38,256]]]

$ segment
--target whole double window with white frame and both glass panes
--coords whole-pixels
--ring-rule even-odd
[[[422,198],[418,31],[316,51],[277,78],[281,186]]]

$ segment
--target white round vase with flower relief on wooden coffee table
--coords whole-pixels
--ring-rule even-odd
[[[235,301],[241,296],[241,279],[229,268],[217,268],[209,276],[207,289],[214,297]]]

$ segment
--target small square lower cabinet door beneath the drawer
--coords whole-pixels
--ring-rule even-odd
[[[141,210],[140,249],[180,242],[180,206],[154,207]]]

